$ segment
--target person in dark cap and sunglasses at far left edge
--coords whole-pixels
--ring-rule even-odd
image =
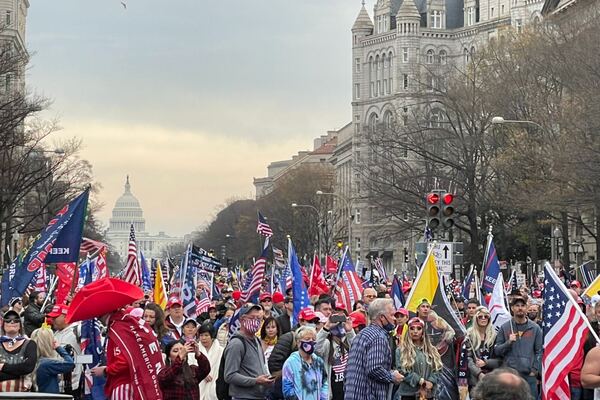
[[[23,322],[14,310],[4,313],[0,333],[0,392],[28,392],[37,345],[23,336]]]

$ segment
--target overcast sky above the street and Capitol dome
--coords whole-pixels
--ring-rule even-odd
[[[35,1],[27,20],[28,85],[83,139],[105,223],[129,174],[147,230],[188,233],[350,121],[361,0],[124,2]]]

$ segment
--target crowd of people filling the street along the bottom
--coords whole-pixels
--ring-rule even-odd
[[[579,282],[571,287],[580,299]],[[364,289],[351,310],[323,294],[297,315],[291,291],[262,293],[254,304],[223,288],[196,318],[185,315],[179,297],[169,298],[163,310],[144,296],[103,311],[106,363],[87,374],[107,379],[108,399],[143,398],[132,385],[131,361],[121,354],[137,349],[111,339],[119,338],[113,329],[118,321],[134,321],[151,333],[143,339],[147,348],[162,351],[154,373],[163,399],[453,399],[456,390],[462,398],[533,400],[539,398],[543,351],[539,297],[527,288],[510,295],[512,319],[496,330],[477,299],[451,296],[466,329],[458,337],[432,299],[419,300],[416,313],[409,313],[394,307],[384,285]],[[0,391],[84,398],[86,372],[77,361],[81,323],[67,322],[71,305],[42,309],[44,300],[39,292],[11,299],[2,316]],[[600,318],[600,301],[587,312],[593,321]],[[597,322],[593,326],[598,330]],[[595,345],[590,337],[585,351]],[[582,388],[585,379],[581,369],[569,374],[572,399],[594,399],[593,390]]]

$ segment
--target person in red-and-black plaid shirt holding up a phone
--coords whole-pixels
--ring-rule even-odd
[[[189,365],[188,354],[194,354],[198,365]],[[158,374],[163,400],[199,399],[199,384],[210,372],[208,359],[192,342],[177,340],[165,348],[167,366]]]

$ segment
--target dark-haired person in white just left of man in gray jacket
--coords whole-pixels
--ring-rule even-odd
[[[215,328],[210,323],[205,322],[198,328],[198,347],[210,362],[210,373],[200,382],[200,400],[217,400],[217,378],[224,349],[215,340],[215,335]]]

